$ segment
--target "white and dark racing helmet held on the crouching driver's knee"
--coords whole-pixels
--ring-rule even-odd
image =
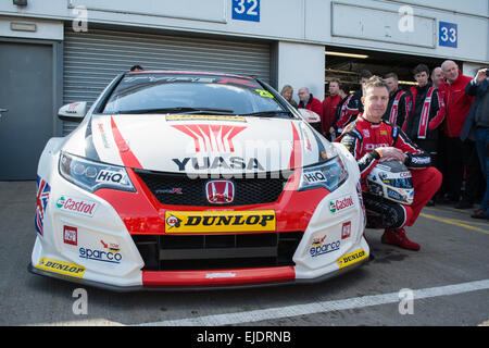
[[[377,163],[366,177],[368,192],[410,206],[414,199],[410,170],[399,161]]]

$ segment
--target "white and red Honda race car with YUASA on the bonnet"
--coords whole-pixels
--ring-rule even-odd
[[[113,290],[317,282],[368,259],[360,172],[266,83],[117,76],[39,160],[29,271]]]

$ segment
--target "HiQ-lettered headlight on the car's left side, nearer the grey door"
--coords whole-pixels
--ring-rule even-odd
[[[136,191],[123,166],[95,162],[61,152],[59,167],[61,176],[90,192],[100,188]]]

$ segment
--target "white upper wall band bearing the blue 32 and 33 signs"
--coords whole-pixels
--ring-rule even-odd
[[[9,0],[0,1],[0,16],[72,20],[75,17],[73,7],[85,5],[89,24],[116,24],[489,62],[488,0],[262,0],[260,22],[233,20],[231,1],[28,0],[28,5],[24,8],[13,5]],[[331,9],[338,9],[338,3],[351,5],[356,16],[350,21],[338,16],[338,12],[335,15]],[[416,25],[413,32],[400,34],[396,22],[397,17],[401,18],[398,12],[405,4],[413,10]],[[438,45],[440,21],[457,24],[456,49]],[[430,22],[435,25],[430,25]],[[362,33],[361,27],[367,32]],[[337,33],[333,33],[331,28],[336,28]],[[346,34],[352,34],[351,29],[356,33],[347,37]],[[3,36],[1,30],[0,36]],[[416,45],[417,38],[435,45]]]

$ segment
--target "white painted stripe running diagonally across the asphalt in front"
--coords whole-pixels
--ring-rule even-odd
[[[430,287],[425,289],[413,290],[414,301],[423,298],[449,296],[463,293],[489,289],[489,279]],[[294,304],[279,308],[268,308],[254,311],[246,311],[238,313],[224,313],[198,318],[187,318],[178,320],[167,320],[154,323],[143,323],[140,326],[220,326],[244,324],[260,322],[264,320],[274,320],[281,318],[309,315],[316,313],[325,313],[330,311],[341,311],[347,309],[363,308],[369,306],[379,306],[387,303],[400,302],[399,293],[381,294],[374,296],[363,296],[349,298],[344,300],[334,300],[324,302],[313,302],[304,304]]]

